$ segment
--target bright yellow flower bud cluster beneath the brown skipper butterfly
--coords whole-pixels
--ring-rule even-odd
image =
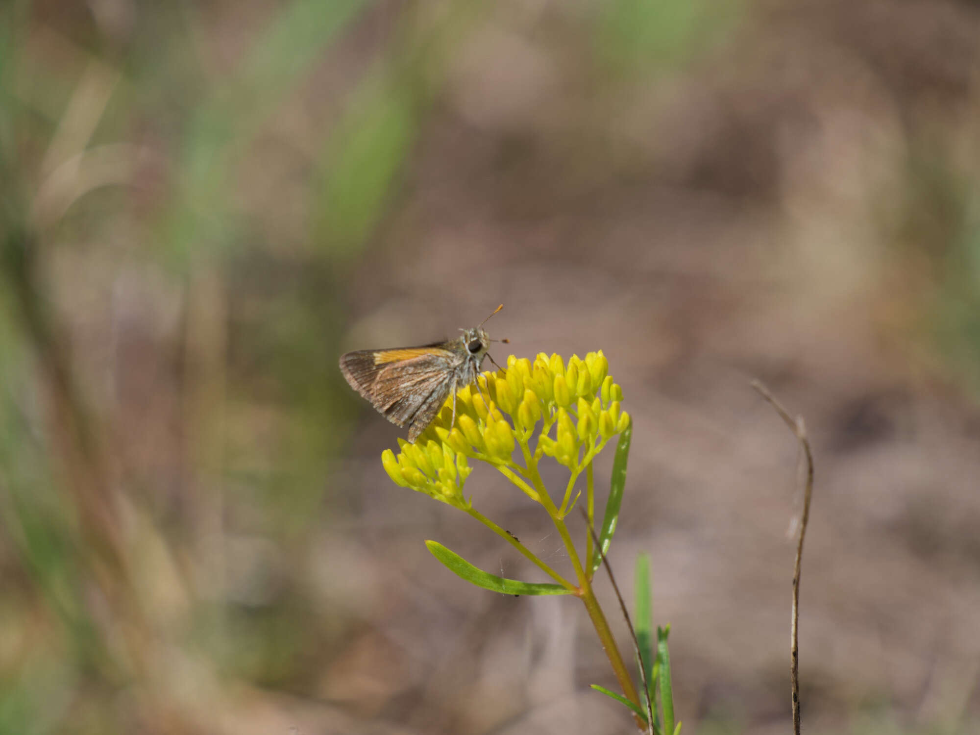
[[[608,372],[601,350],[584,360],[573,355],[567,367],[560,355],[542,353],[533,364],[512,355],[506,370],[484,372],[457,394],[455,425],[451,396],[415,444],[399,439],[398,456],[385,450],[381,462],[396,484],[464,509],[467,458],[509,474],[547,456],[577,474],[629,426],[620,409],[622,389]],[[518,448],[523,466],[513,459]]]

